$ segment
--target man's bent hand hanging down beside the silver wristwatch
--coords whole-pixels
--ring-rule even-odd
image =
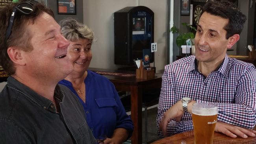
[[[176,121],[180,121],[183,115],[183,108],[181,100],[175,103],[170,109],[168,109],[164,114],[163,118],[161,119],[159,129],[163,131],[163,136],[167,136],[167,126],[168,123],[173,119],[176,118]]]

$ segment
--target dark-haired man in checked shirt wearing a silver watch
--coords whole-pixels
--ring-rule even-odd
[[[227,1],[204,6],[195,36],[195,55],[165,66],[158,105],[160,136],[193,129],[193,103],[215,103],[215,131],[229,137],[255,137],[256,69],[226,55],[238,40],[246,16]],[[186,98],[184,98],[186,97]]]

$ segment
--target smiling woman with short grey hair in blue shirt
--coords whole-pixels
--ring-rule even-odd
[[[92,59],[93,31],[73,18],[61,20],[59,24],[64,37],[70,41],[67,56],[74,66],[59,84],[76,94],[96,139],[104,139],[104,144],[121,144],[132,135],[133,124],[113,83],[87,70]]]

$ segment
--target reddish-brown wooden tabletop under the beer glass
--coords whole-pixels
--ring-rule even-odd
[[[194,132],[178,133],[152,142],[151,144],[194,144]],[[256,137],[231,138],[223,133],[214,132],[213,144],[256,144]]]

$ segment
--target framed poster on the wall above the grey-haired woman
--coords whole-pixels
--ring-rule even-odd
[[[76,14],[76,0],[57,0],[58,14]]]

